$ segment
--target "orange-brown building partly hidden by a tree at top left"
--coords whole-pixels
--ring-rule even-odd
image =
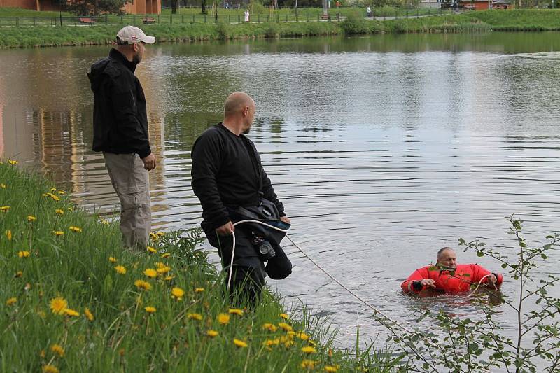
[[[66,2],[66,0],[62,0]],[[0,8],[24,8],[32,10],[59,10],[59,0],[0,0]],[[123,11],[129,14],[160,14],[161,0],[133,0],[126,3]]]

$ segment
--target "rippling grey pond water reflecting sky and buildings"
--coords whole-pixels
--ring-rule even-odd
[[[402,35],[155,45],[137,75],[148,101],[153,216],[159,229],[200,223],[190,188],[194,139],[234,90],[258,104],[250,134],[293,220],[291,235],[339,281],[402,322],[417,300],[400,281],[458,237],[512,246],[560,227],[559,34]],[[85,72],[107,48],[0,51],[0,151],[45,172],[90,209],[118,199],[91,151]],[[295,265],[269,281],[304,300],[353,344],[363,304],[286,246]],[[496,263],[460,253],[461,262]],[[559,258],[541,265],[558,274]],[[506,281],[505,295],[514,295]],[[430,305],[429,305],[430,304]],[[452,305],[450,311],[475,313]],[[359,315],[359,316],[356,316]],[[512,318],[503,309],[504,320]],[[368,319],[369,320],[369,319]],[[362,335],[382,330],[360,323]]]

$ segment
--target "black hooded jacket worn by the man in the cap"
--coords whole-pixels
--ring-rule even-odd
[[[116,49],[92,64],[87,73],[93,100],[93,150],[150,155],[146,97],[134,76],[136,63]]]

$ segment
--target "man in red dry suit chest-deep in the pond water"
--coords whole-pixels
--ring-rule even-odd
[[[440,290],[445,293],[463,293],[472,284],[482,284],[499,288],[503,276],[491,273],[480,265],[457,265],[457,254],[452,248],[444,247],[437,252],[436,265],[416,269],[400,287],[405,293],[419,293],[421,290]]]

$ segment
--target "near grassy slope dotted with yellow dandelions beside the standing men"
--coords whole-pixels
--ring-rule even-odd
[[[329,353],[325,321],[305,311],[281,315],[268,291],[253,311],[230,314],[223,279],[195,250],[200,230],[159,237],[157,253],[132,253],[116,223],[85,213],[49,181],[5,161],[0,205],[1,372],[297,372],[304,360],[318,370],[395,370],[396,360],[379,351]],[[146,269],[158,268],[161,274],[148,276]],[[141,290],[137,280],[151,288]],[[181,299],[173,288],[184,291]],[[67,302],[62,314],[52,310],[56,298]]]

